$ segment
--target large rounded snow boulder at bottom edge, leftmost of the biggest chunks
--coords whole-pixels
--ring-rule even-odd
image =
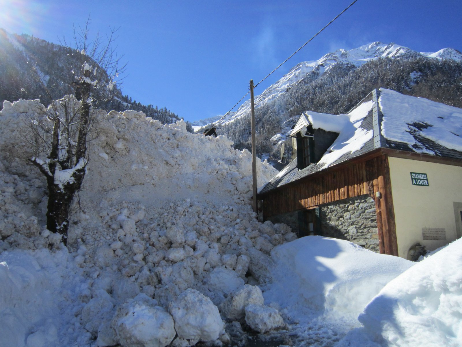
[[[175,338],[172,316],[154,300],[140,294],[123,304],[114,318],[120,344],[124,347],[165,347]]]

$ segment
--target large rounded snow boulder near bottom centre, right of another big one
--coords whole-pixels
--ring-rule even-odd
[[[223,331],[218,307],[194,289],[183,291],[170,303],[169,311],[175,320],[178,337],[193,341],[215,341]]]

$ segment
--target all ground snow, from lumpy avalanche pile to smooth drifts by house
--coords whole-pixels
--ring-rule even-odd
[[[64,247],[26,164],[24,119],[38,110],[0,112],[0,347],[222,346],[244,320],[292,346],[460,345],[459,241],[416,265],[292,241],[251,211],[250,153],[182,121],[109,112]],[[276,173],[257,167],[260,185]]]

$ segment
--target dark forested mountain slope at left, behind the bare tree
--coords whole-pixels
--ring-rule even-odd
[[[59,99],[74,92],[74,71],[79,71],[88,59],[88,56],[73,48],[25,34],[10,34],[0,28],[0,102],[40,99],[43,104],[49,105],[49,93],[52,99]],[[108,78],[107,73],[102,76],[103,79]],[[122,94],[118,86],[113,85],[110,90],[106,86],[94,90],[95,100],[100,108],[142,111],[146,117],[163,123],[180,119],[165,107],[142,105],[132,101],[131,97]]]

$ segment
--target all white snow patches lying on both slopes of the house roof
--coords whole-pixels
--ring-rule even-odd
[[[460,108],[403,95],[385,88],[380,88],[378,104],[383,113],[381,134],[386,139],[406,143],[416,152],[433,154],[426,148],[413,147],[418,144],[413,135],[419,135],[445,148],[462,152]],[[321,168],[328,167],[343,155],[363,148],[365,143],[372,139],[373,130],[363,129],[361,124],[371,112],[373,105],[373,100],[362,102],[346,115],[304,112],[291,136],[303,131],[303,128],[310,124],[315,129],[338,132],[339,136],[318,162],[322,165]]]

